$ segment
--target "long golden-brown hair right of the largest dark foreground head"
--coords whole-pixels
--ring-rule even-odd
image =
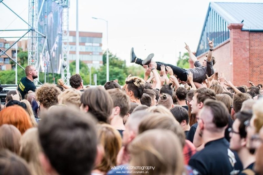
[[[106,173],[111,169],[111,166],[117,164],[117,155],[122,146],[122,138],[118,130],[106,123],[98,124],[97,133],[98,142],[103,146],[105,154],[95,169]]]

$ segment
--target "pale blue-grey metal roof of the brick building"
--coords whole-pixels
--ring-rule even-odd
[[[263,3],[211,2],[210,7],[228,24],[244,20],[242,30],[263,30]]]

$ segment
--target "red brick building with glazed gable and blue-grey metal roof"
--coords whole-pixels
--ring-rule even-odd
[[[211,2],[196,51],[202,61],[214,38],[215,72],[234,85],[263,83],[263,3]],[[190,67],[194,67],[190,62]]]

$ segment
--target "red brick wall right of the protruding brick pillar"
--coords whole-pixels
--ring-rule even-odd
[[[263,83],[263,32],[249,32],[250,81]]]

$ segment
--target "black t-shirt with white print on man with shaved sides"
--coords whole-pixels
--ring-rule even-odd
[[[243,169],[237,153],[229,149],[225,138],[205,144],[205,148],[194,154],[188,164],[202,175],[234,175]]]

